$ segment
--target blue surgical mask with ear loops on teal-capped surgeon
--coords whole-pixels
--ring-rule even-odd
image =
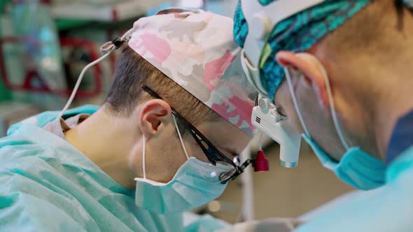
[[[318,61],[315,57],[308,54],[298,54],[300,56],[311,57]],[[373,157],[371,154],[360,149],[360,147],[350,147],[346,140],[344,139],[342,130],[339,127],[338,119],[335,111],[334,102],[332,101],[332,93],[330,88],[330,82],[328,80],[327,73],[325,72],[323,66],[319,64],[320,68],[323,71],[323,76],[325,78],[325,87],[328,94],[328,101],[330,102],[330,111],[332,115],[332,120],[335,125],[335,129],[339,136],[339,140],[346,149],[346,152],[342,155],[342,159],[339,162],[333,161],[329,154],[324,152],[321,147],[311,138],[309,135],[309,130],[307,129],[306,124],[302,118],[300,108],[298,107],[297,98],[293,89],[293,85],[290,78],[290,69],[284,68],[286,73],[286,79],[288,82],[288,87],[293,99],[293,104],[295,110],[297,111],[297,116],[300,119],[302,128],[304,129],[304,134],[302,137],[310,145],[316,157],[321,161],[321,164],[325,168],[330,169],[334,172],[337,177],[346,184],[349,184],[357,189],[370,190],[377,187],[381,187],[385,184],[386,178],[386,164],[381,160]]]

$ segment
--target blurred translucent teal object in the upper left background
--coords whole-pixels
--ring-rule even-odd
[[[22,45],[22,59],[25,61],[22,63],[27,64],[27,85],[24,87],[48,91],[64,89],[62,54],[55,23],[48,9],[36,0],[19,1],[10,6],[9,15],[16,37],[14,40],[9,37],[8,41]],[[40,85],[36,86],[32,78],[37,78]]]

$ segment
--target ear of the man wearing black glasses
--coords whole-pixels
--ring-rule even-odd
[[[172,109],[166,101],[153,99],[144,104],[139,115],[139,126],[146,139],[160,133],[172,120]]]

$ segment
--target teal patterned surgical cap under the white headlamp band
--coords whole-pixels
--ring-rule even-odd
[[[277,0],[255,1],[266,6]],[[274,100],[276,89],[284,77],[283,68],[276,63],[276,52],[308,50],[371,2],[370,0],[327,0],[276,24],[269,34],[267,45],[260,58],[260,78],[269,97]],[[244,47],[248,24],[241,7],[239,1],[234,16],[234,38],[241,47]]]

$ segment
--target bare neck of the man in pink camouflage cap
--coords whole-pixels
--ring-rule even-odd
[[[134,171],[130,154],[140,139],[136,122],[113,117],[100,108],[81,124],[66,132],[66,140],[85,154],[116,182],[134,189]]]

